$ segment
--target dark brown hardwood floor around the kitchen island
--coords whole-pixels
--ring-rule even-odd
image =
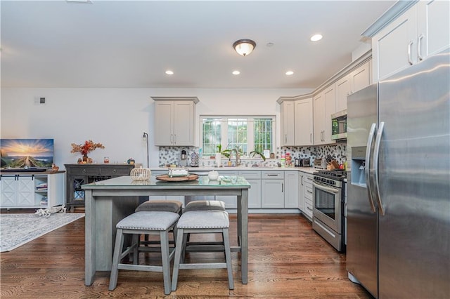
[[[236,216],[231,215],[236,244]],[[248,284],[240,282],[238,253],[232,253],[234,290],[226,270],[180,270],[169,298],[372,298],[347,279],[345,254],[311,229],[302,215],[252,214],[249,218]],[[187,258],[223,259],[223,253],[190,253]],[[141,261],[158,260],[141,254]],[[165,297],[162,273],[120,270],[117,288],[109,274],[84,286],[84,218],[8,253],[1,253],[0,298],[155,298]]]

